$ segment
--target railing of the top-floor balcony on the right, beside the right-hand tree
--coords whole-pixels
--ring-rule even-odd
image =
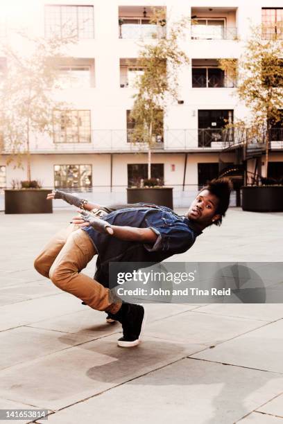
[[[198,25],[191,26],[192,39],[237,39],[237,28],[232,26]]]

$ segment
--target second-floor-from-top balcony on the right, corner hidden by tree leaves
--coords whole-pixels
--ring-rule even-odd
[[[234,88],[237,81],[218,67],[217,59],[193,59],[191,85],[193,88]]]

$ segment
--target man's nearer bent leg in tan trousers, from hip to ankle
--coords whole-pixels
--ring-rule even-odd
[[[69,235],[49,271],[51,281],[58,288],[83,300],[90,308],[116,314],[121,300],[103,285],[82,274],[96,251],[87,233],[78,229]]]

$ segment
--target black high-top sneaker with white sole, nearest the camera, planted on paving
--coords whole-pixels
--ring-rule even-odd
[[[141,335],[144,331],[146,314],[143,306],[132,303],[123,303],[123,314],[121,324],[123,328],[123,337],[118,339],[118,346],[133,347],[141,341]]]

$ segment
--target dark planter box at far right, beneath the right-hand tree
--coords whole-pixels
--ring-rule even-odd
[[[251,212],[282,212],[283,186],[243,187],[242,208]]]

